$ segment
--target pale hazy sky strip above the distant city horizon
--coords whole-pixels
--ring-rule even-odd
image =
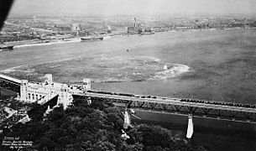
[[[255,14],[256,0],[15,0],[11,13]]]

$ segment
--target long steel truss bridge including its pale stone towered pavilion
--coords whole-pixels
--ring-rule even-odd
[[[48,75],[49,76],[49,75]],[[7,74],[0,73],[0,86],[9,88],[11,90],[18,91],[18,86],[22,86],[24,80],[15,77],[9,76]],[[52,82],[51,76],[48,80],[49,83]],[[50,101],[50,98],[55,97],[57,94],[66,97],[67,100],[70,100],[70,96],[60,93],[64,84],[53,83],[53,86],[44,86],[44,90],[49,89],[46,96],[41,96],[39,98],[38,93],[43,89],[42,84],[33,84],[33,90],[36,88],[33,98],[28,101],[39,101],[43,104]],[[86,83],[86,86],[88,83]],[[31,84],[32,85],[32,84]],[[36,85],[36,86],[34,86]],[[61,85],[61,86],[60,86]],[[126,93],[115,93],[107,91],[92,91],[91,83],[89,89],[86,87],[77,88],[66,86],[65,91],[70,93],[74,99],[90,99],[90,98],[101,98],[107,102],[113,102],[116,106],[130,107],[140,110],[148,110],[155,112],[172,112],[180,113],[185,115],[193,115],[199,117],[212,117],[216,119],[228,119],[233,121],[242,121],[242,122],[254,122],[256,123],[256,106],[249,104],[233,103],[233,102],[213,102],[206,100],[196,100],[189,98],[168,98],[168,97],[159,97],[159,96],[136,96],[133,94]],[[31,87],[31,86],[30,86]],[[29,87],[29,88],[30,88]],[[61,87],[61,88],[60,88]],[[31,88],[31,89],[32,89]],[[23,91],[26,89],[23,89]],[[54,91],[53,91],[54,90]],[[18,91],[23,93],[21,90]],[[27,91],[24,91],[27,93]],[[26,96],[28,97],[28,96]],[[30,95],[29,95],[30,97]],[[25,98],[25,97],[24,97]],[[38,98],[38,100],[34,99]],[[43,99],[42,99],[43,98]],[[48,99],[45,99],[48,98]]]

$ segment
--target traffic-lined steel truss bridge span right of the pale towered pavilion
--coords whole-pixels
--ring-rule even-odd
[[[229,106],[227,102],[209,102],[182,98],[142,98],[142,96],[120,96],[113,94],[101,94],[96,92],[86,92],[79,95],[81,97],[97,97],[113,102],[117,106],[128,106],[135,109],[151,110],[157,112],[174,112],[200,117],[213,117],[217,119],[228,119],[233,121],[256,123],[256,107],[241,105],[241,107]],[[195,99],[192,99],[195,100]],[[240,104],[239,104],[240,105]]]

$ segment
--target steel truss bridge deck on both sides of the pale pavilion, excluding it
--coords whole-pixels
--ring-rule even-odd
[[[0,86],[6,86],[19,91],[22,79],[0,73]],[[10,85],[10,86],[8,86]],[[80,93],[81,92],[81,93]],[[73,94],[83,97],[100,97],[117,105],[154,110],[158,112],[180,112],[197,116],[210,116],[216,118],[228,118],[234,120],[246,120],[256,122],[256,106],[232,102],[210,102],[187,98],[166,98],[157,96],[134,96],[133,94],[114,93],[106,91],[79,91]]]

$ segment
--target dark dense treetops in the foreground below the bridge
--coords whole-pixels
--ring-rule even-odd
[[[20,136],[21,140],[33,140],[27,150],[193,150],[183,139],[173,136],[170,130],[159,126],[137,125],[123,139],[123,111],[112,103],[98,98],[77,100],[66,110],[55,107],[47,117],[34,104],[29,111],[30,122],[15,125],[6,136]],[[206,150],[203,146],[197,150]]]

